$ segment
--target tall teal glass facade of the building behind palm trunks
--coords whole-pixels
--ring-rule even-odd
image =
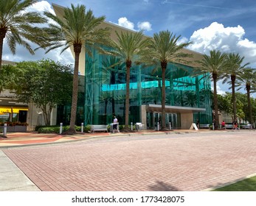
[[[82,87],[77,108],[77,125],[110,124],[117,116],[120,124],[125,124],[125,64],[115,65],[117,57],[99,54],[91,49],[86,54],[85,76],[80,77]],[[111,66],[114,65],[114,66]],[[209,75],[208,75],[209,77]],[[205,112],[194,113],[194,121],[201,124],[212,121],[210,100],[210,78],[193,76],[193,68],[187,65],[167,65],[166,105],[179,107],[205,108]],[[140,106],[161,104],[162,71],[161,68],[132,65],[130,79],[130,122],[141,122]],[[84,95],[84,96],[83,96]],[[69,119],[70,106],[58,107],[58,119]],[[147,118],[158,118],[147,113]],[[179,126],[179,113],[167,113],[167,118]]]

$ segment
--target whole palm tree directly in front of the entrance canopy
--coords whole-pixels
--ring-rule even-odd
[[[148,60],[161,64],[162,68],[162,129],[166,128],[165,124],[165,72],[167,68],[167,63],[179,63],[182,61],[183,57],[188,57],[188,54],[185,54],[181,50],[185,46],[188,46],[190,43],[181,43],[177,44],[177,41],[181,35],[176,37],[173,33],[167,31],[162,31],[155,33],[149,49],[151,54],[148,55]],[[184,59],[183,59],[184,60]]]

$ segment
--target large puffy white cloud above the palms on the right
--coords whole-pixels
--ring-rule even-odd
[[[244,38],[245,30],[242,26],[224,27],[223,24],[213,22],[204,29],[193,32],[188,49],[209,54],[216,49],[222,52],[234,52],[245,57],[244,63],[256,65],[256,43]]]

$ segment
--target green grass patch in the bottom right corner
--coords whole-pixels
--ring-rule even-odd
[[[223,188],[218,188],[213,191],[256,191],[256,176],[231,185],[226,185]]]

